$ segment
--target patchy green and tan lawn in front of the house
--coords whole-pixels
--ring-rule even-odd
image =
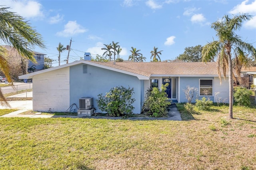
[[[256,169],[255,107],[182,107],[184,121],[0,118],[0,169]]]

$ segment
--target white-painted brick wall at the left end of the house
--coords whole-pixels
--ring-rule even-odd
[[[69,67],[33,77],[33,110],[64,112],[70,106]]]

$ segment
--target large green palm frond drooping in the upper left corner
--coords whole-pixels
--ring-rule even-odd
[[[0,8],[0,39],[12,45],[18,53],[36,63],[34,53],[30,50],[35,46],[46,48],[42,36],[34,30],[24,18],[8,8]]]

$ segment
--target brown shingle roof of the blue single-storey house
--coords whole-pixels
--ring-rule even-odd
[[[216,62],[96,62],[100,65],[139,75],[218,75]]]

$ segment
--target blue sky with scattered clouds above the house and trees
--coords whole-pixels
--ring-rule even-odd
[[[84,52],[102,55],[103,44],[119,42],[120,57],[127,60],[131,47],[150,61],[154,46],[161,60],[175,59],[185,47],[204,45],[215,38],[211,23],[224,15],[248,13],[238,35],[256,47],[256,0],[0,0],[0,5],[29,20],[42,35],[47,54],[58,65],[58,43],[72,38],[69,62]],[[61,64],[68,51],[61,54]]]

